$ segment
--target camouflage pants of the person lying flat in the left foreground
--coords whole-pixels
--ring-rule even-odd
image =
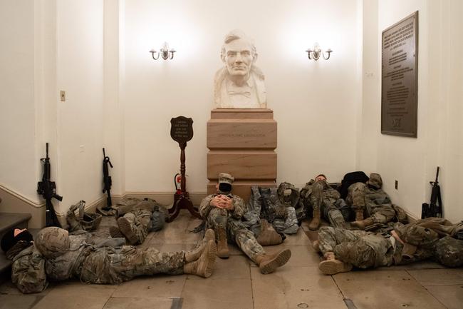
[[[160,253],[155,248],[97,248],[83,261],[80,280],[85,283],[115,284],[140,275],[183,273],[184,252]]]

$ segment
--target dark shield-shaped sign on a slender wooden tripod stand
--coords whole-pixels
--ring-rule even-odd
[[[194,208],[192,201],[189,199],[187,192],[187,180],[185,178],[185,148],[187,141],[193,138],[193,119],[184,116],[170,119],[170,137],[180,146],[180,175],[182,181],[180,183],[180,192],[174,195],[174,205],[169,209],[172,215],[167,218],[167,222],[174,221],[180,213],[181,209],[187,209],[193,216],[201,218],[197,208]]]

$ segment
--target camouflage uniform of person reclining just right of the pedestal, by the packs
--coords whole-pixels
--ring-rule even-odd
[[[345,226],[345,204],[340,199],[340,194],[326,181],[309,181],[301,190],[301,198],[310,213],[311,210],[320,210],[323,218],[331,226],[343,228]]]

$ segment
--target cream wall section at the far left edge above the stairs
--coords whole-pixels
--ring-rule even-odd
[[[0,185],[36,196],[34,6],[0,2]]]

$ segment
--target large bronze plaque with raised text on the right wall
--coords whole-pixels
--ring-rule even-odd
[[[417,137],[418,11],[383,31],[381,133]]]

